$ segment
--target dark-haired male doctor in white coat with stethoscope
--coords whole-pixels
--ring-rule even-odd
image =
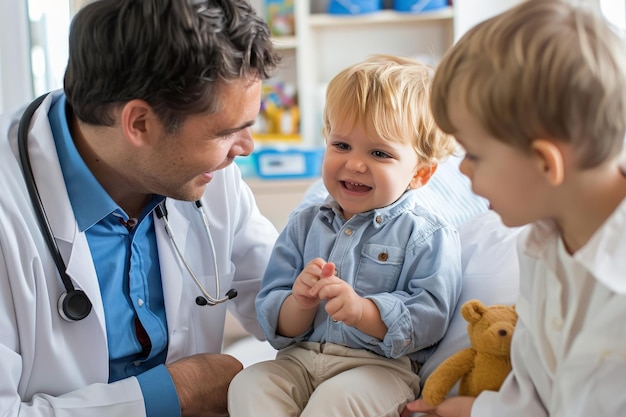
[[[226,308],[261,336],[276,238],[232,164],[268,28],[245,0],[99,0],[69,52],[63,91],[0,119],[0,415],[224,415]]]

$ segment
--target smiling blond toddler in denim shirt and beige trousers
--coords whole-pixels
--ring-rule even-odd
[[[461,291],[456,229],[419,204],[455,149],[429,107],[432,68],[378,55],[328,85],[322,178],[257,297],[275,360],[240,372],[231,417],[399,416]]]

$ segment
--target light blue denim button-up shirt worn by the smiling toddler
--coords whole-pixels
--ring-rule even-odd
[[[388,328],[383,340],[333,322],[325,302],[304,334],[276,334],[283,301],[304,266],[317,257],[333,262],[339,277],[376,304]],[[407,191],[395,203],[348,221],[330,197],[292,216],[272,252],[256,308],[276,349],[299,341],[331,342],[423,363],[445,334],[460,293],[457,230],[420,206],[415,191]]]

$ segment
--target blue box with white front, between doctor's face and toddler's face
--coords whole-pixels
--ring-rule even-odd
[[[312,178],[320,176],[324,148],[263,148],[252,155],[260,178]]]

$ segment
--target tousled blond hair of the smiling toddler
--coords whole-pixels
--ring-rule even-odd
[[[433,72],[419,61],[391,55],[373,55],[344,69],[326,90],[324,137],[343,123],[373,126],[385,140],[410,140],[420,163],[445,159],[456,142],[437,127],[430,111]]]

